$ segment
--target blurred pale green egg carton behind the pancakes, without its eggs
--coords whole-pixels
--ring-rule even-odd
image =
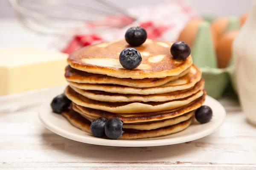
[[[226,31],[239,28],[239,22],[236,17],[230,18]],[[209,96],[215,99],[221,98],[230,82],[234,85],[233,62],[225,69],[218,68],[215,48],[212,42],[210,23],[204,21],[198,28],[198,33],[192,45],[191,52],[193,62],[201,71],[205,79],[205,89]]]

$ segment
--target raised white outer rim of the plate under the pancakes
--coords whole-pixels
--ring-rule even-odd
[[[220,102],[218,102],[216,99],[212,98],[211,96],[206,96],[206,99],[212,100],[215,103],[218,103],[219,109],[221,109],[222,115],[222,120],[218,124],[214,124],[214,126],[208,128],[207,130],[203,130],[199,133],[192,133],[188,136],[183,136],[179,138],[167,138],[167,139],[156,139],[156,140],[143,140],[143,139],[121,139],[121,140],[111,140],[111,139],[103,139],[103,138],[96,138],[94,136],[81,136],[77,135],[76,133],[71,133],[70,131],[63,130],[61,127],[58,125],[52,124],[49,121],[45,120],[43,117],[43,112],[45,112],[45,106],[49,107],[49,100],[45,101],[42,103],[42,105],[39,108],[38,112],[38,118],[40,119],[41,123],[50,131],[53,133],[56,133],[59,136],[65,137],[67,139],[71,139],[74,141],[82,142],[82,143],[87,143],[87,144],[95,144],[95,145],[102,145],[102,146],[115,146],[115,147],[151,147],[151,146],[163,146],[163,145],[171,145],[171,144],[179,144],[179,143],[184,143],[184,142],[189,142],[193,141],[196,139],[201,139],[205,136],[208,136],[215,132],[216,130],[221,127],[221,125],[225,121],[226,117],[226,111],[221,105]],[[61,115],[60,115],[61,116]],[[66,120],[67,121],[67,120]],[[74,127],[73,125],[70,124],[70,126]],[[77,127],[75,127],[77,128]],[[188,127],[189,128],[189,127]],[[84,132],[86,133],[86,132]],[[95,140],[97,139],[97,140]],[[110,142],[111,141],[111,142]],[[121,142],[122,141],[122,142]]]

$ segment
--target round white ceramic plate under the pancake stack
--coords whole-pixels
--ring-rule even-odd
[[[41,105],[39,111],[39,118],[45,127],[47,127],[52,132],[68,139],[88,144],[98,144],[105,146],[148,147],[189,142],[213,133],[222,125],[226,116],[226,111],[223,106],[217,100],[207,96],[204,105],[208,105],[212,108],[213,116],[212,120],[206,124],[199,124],[195,122],[187,129],[168,136],[148,139],[110,140],[96,138],[91,134],[83,132],[82,130],[74,127],[63,116],[52,113],[50,102],[51,101],[45,102],[43,105]]]

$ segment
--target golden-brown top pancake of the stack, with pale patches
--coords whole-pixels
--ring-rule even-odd
[[[164,78],[177,76],[192,65],[192,57],[185,60],[173,59],[171,42],[146,40],[136,47],[142,56],[139,67],[129,70],[119,62],[119,54],[131,47],[125,40],[90,45],[73,52],[67,59],[72,68],[93,74],[105,74],[118,78]]]

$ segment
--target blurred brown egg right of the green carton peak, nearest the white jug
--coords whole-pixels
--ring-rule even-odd
[[[229,64],[232,56],[232,43],[238,32],[238,30],[229,31],[219,40],[216,49],[219,68],[226,68]]]

